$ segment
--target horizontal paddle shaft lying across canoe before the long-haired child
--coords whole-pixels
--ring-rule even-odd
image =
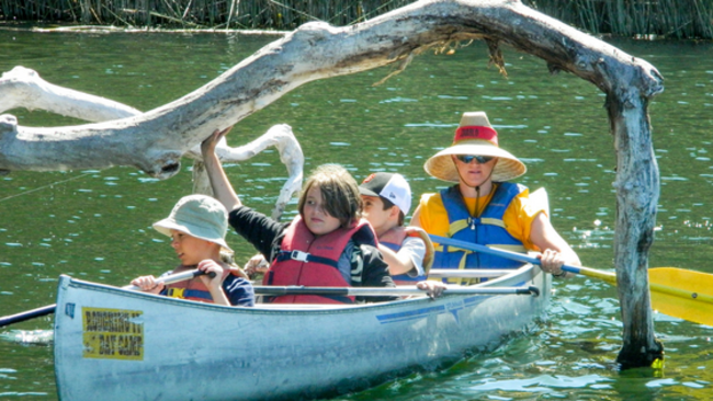
[[[403,295],[423,295],[425,289],[416,286],[399,287],[305,287],[305,286],[253,286],[256,294],[281,295],[322,295],[342,297],[384,297]],[[461,287],[449,286],[443,295],[540,295],[540,288],[530,287]]]

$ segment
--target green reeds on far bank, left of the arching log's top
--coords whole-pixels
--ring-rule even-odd
[[[414,0],[0,0],[0,19],[120,26],[294,30],[347,25]]]

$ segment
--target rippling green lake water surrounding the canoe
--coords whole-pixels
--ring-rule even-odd
[[[0,71],[24,66],[52,83],[148,111],[210,82],[273,39],[0,31]],[[713,45],[612,44],[666,78],[666,91],[649,108],[661,173],[649,265],[713,273]],[[450,145],[463,112],[484,110],[501,146],[529,168],[518,182],[547,190],[553,224],[582,263],[612,270],[615,154],[604,96],[576,77],[550,76],[540,59],[505,50],[507,78],[488,67],[485,46],[475,43],[451,56],[420,56],[378,87],[373,83],[392,68],[312,82],[240,122],[228,141],[238,146],[285,123],[305,152],[306,172],[326,162],[346,165],[358,181],[374,171],[398,171],[411,183],[416,203],[418,194],[443,187],[423,172],[426,159]],[[9,113],[29,126],[81,124],[42,111]],[[0,316],[54,303],[60,274],[121,286],[172,268],[168,239],[150,226],[191,192],[191,164],[185,159],[181,173],[167,181],[124,167],[0,176]],[[226,170],[247,205],[270,213],[286,179],[276,151]],[[293,215],[294,205],[285,217]],[[253,253],[234,233],[228,241],[240,263]],[[543,320],[497,350],[339,400],[713,397],[712,328],[656,314],[665,368],[620,373],[615,289],[587,277],[555,282],[554,288]],[[50,317],[0,329],[0,399],[57,398],[50,329]]]

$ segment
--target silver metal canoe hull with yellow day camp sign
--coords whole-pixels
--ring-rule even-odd
[[[263,400],[363,389],[498,345],[541,316],[537,267],[485,285],[539,297],[449,296],[348,308],[229,308],[63,276],[55,317],[61,400]]]

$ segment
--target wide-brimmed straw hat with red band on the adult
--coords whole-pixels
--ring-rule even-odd
[[[460,182],[452,154],[498,158],[490,175],[495,182],[512,180],[528,171],[520,159],[498,146],[498,133],[490,125],[485,112],[463,113],[453,144],[428,159],[423,169],[439,180]]]

